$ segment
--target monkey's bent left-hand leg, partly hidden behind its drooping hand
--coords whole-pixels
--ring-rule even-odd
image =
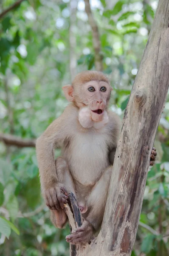
[[[68,193],[73,192],[75,195],[73,179],[70,175],[66,161],[63,157],[58,157],[55,160],[55,164],[58,182],[64,184]],[[51,210],[51,221],[56,227],[63,228],[68,221],[68,216],[66,215],[65,210]]]

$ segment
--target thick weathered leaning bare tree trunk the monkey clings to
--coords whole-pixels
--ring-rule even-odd
[[[169,0],[160,0],[124,113],[97,239],[72,255],[130,256],[155,134],[169,88]]]

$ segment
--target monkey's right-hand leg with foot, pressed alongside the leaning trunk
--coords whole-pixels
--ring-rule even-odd
[[[111,172],[112,166],[109,166],[93,187],[87,199],[88,215],[81,227],[73,230],[71,235],[66,236],[67,242],[72,244],[89,242],[93,233],[99,230],[107,201]]]

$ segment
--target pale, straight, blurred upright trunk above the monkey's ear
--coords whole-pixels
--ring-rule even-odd
[[[73,81],[76,76],[76,35],[74,32],[74,27],[76,25],[76,10],[77,10],[77,0],[70,0],[70,26],[69,26],[69,45],[70,45],[70,76],[71,81]]]

